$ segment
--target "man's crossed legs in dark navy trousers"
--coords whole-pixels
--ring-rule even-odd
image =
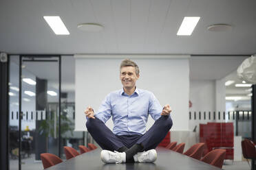
[[[161,116],[142,136],[116,136],[99,119],[88,119],[86,127],[102,149],[125,152],[126,162],[134,162],[134,155],[140,151],[155,149],[173,125],[171,117]]]

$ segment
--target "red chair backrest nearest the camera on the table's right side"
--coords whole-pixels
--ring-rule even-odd
[[[206,154],[201,160],[215,167],[222,168],[225,156],[225,149],[214,149]]]

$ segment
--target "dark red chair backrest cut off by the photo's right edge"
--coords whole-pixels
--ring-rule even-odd
[[[242,141],[242,152],[246,159],[256,159],[256,149],[253,141],[244,139]]]

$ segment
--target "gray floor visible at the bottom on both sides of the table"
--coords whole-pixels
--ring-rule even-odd
[[[17,170],[18,160],[10,160],[10,170]],[[34,169],[43,169],[41,161],[35,161],[34,155],[31,155],[30,158],[25,158],[22,160],[21,169],[25,170],[34,170]],[[250,170],[250,166],[246,161],[225,161],[222,167],[224,170]]]

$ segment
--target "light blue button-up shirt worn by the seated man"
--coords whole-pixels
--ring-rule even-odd
[[[113,132],[117,135],[145,134],[149,117],[161,117],[162,106],[153,93],[136,88],[132,95],[116,90],[103,100],[95,117],[106,123],[112,116]]]

